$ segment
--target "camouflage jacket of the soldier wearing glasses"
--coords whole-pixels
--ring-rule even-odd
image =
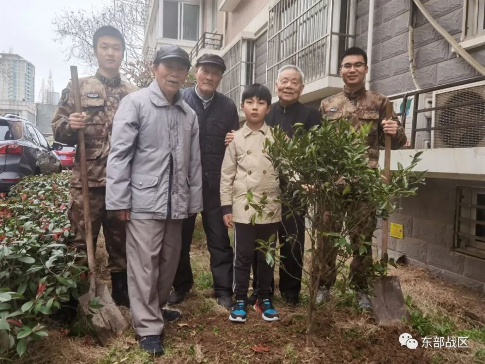
[[[379,146],[384,146],[384,130],[381,122],[386,116],[386,107],[389,99],[382,94],[367,91],[362,85],[354,92],[343,91],[322,100],[320,112],[329,120],[337,120],[340,117],[353,119],[355,126],[360,127],[364,123],[372,123],[371,132],[367,137],[369,149],[369,166],[379,166]],[[392,120],[399,124],[397,134],[392,137],[391,148],[399,149],[406,143],[406,134],[396,114],[392,113]]]

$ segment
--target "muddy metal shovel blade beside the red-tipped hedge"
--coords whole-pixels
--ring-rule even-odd
[[[103,305],[103,307],[94,309],[95,313],[92,321],[97,339],[104,346],[111,337],[119,335],[128,329],[129,324],[119,308],[114,304],[106,284],[97,284],[96,288],[96,294],[89,290],[88,293],[79,298],[79,306],[82,315],[86,316],[90,314],[89,302],[91,299],[96,296],[99,297],[98,303]]]

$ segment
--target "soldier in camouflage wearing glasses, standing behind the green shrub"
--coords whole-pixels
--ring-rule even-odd
[[[352,119],[356,128],[364,123],[372,123],[371,132],[367,137],[369,149],[369,166],[377,168],[379,165],[379,146],[384,146],[385,134],[391,135],[391,148],[399,149],[406,142],[404,128],[397,116],[393,113],[390,120],[386,120],[386,108],[389,99],[379,93],[365,89],[365,76],[368,72],[367,54],[357,47],[346,50],[342,56],[340,76],[345,83],[343,91],[337,95],[322,100],[320,111],[329,120],[337,120],[342,116]],[[354,259],[350,265],[350,277],[358,291],[358,301],[362,308],[371,308],[371,302],[364,293],[367,288],[367,270],[372,264],[372,249],[368,249],[364,255],[359,255],[359,235],[364,236],[365,242],[372,242],[372,234],[375,230],[375,211],[366,207],[365,204],[357,209],[367,216],[357,226],[355,233],[350,237],[354,246]],[[339,230],[339,226],[332,228]],[[321,287],[317,294],[317,303],[328,300],[329,288],[336,279],[337,251],[327,241],[326,269],[320,281]]]

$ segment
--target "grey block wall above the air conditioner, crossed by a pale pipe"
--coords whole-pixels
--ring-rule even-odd
[[[463,21],[463,0],[422,0],[431,16],[447,32],[460,40]],[[415,89],[409,71],[408,18],[409,1],[378,0],[374,8],[371,89],[392,95]],[[416,77],[420,87],[430,87],[478,76],[451,45],[416,10],[414,51]],[[356,46],[367,49],[369,0],[357,4]],[[484,47],[469,53],[485,63]]]

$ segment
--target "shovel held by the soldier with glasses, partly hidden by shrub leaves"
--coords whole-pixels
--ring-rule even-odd
[[[392,102],[389,102],[386,110],[387,120],[392,117],[392,110]],[[391,136],[385,134],[385,138],[384,183],[388,184],[390,180]],[[388,219],[382,219],[381,259],[385,264],[388,263],[388,226]],[[390,326],[401,323],[403,319],[409,320],[409,313],[404,303],[403,291],[398,277],[381,277],[374,282],[372,288],[374,291],[374,294],[371,295],[372,310],[375,322],[378,325]]]

